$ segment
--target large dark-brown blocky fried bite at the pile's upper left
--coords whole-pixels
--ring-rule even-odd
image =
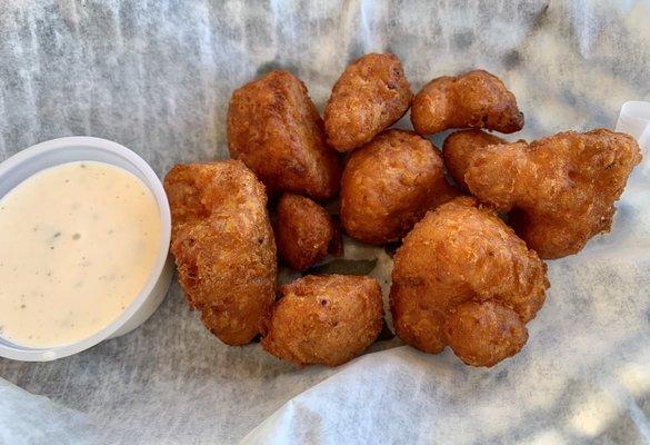
[[[272,71],[232,93],[228,149],[271,196],[291,191],[327,200],[339,191],[338,154],[326,145],[304,83],[287,71]]]

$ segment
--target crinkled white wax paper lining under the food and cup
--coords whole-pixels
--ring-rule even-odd
[[[1,1],[0,159],[71,135],[123,144],[160,176],[223,158],[233,88],[283,67],[322,108],[369,51],[397,53],[416,90],[474,67],[500,76],[526,115],[511,139],[613,128],[624,101],[650,99],[649,23],[648,1]],[[549,261],[528,344],[492,369],[398,338],[294,369],[221,344],[174,283],[127,336],[0,359],[0,443],[650,443],[649,190],[639,168],[612,233]],[[347,257],[389,288],[387,251]]]

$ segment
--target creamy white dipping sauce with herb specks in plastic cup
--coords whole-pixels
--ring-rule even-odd
[[[0,199],[0,336],[52,347],[113,322],[158,255],[156,198],[130,172],[96,161],[37,172]]]

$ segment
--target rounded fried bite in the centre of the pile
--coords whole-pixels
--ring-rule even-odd
[[[457,195],[428,139],[388,130],[350,157],[341,181],[341,222],[351,237],[382,245],[401,239],[428,210]]]

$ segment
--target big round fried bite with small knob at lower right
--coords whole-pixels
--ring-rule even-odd
[[[521,349],[526,323],[549,287],[537,254],[470,197],[428,212],[393,260],[397,335],[432,354],[449,345],[472,366],[493,366]]]

